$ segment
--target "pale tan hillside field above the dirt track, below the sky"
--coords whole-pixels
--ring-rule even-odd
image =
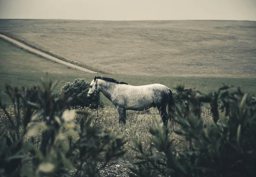
[[[0,31],[74,62],[119,74],[256,74],[253,21],[0,20]]]

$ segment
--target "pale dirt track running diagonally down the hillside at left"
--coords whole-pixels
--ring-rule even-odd
[[[97,72],[95,72],[95,71],[86,69],[86,68],[84,68],[84,67],[80,67],[80,66],[74,65],[74,64],[72,64],[72,63],[65,62],[65,61],[63,61],[63,60],[61,60],[61,59],[58,59],[58,58],[56,58],[56,57],[54,57],[54,56],[51,56],[51,55],[49,55],[49,54],[47,54],[47,53],[38,51],[38,50],[36,50],[36,49],[34,49],[34,48],[29,47],[28,45],[23,44],[22,42],[19,42],[19,41],[15,40],[15,39],[12,39],[12,38],[10,38],[10,37],[7,37],[7,36],[5,36],[5,35],[3,35],[3,34],[0,34],[0,38],[3,38],[3,39],[5,39],[6,41],[11,42],[12,44],[15,44],[15,45],[19,46],[20,48],[23,48],[23,49],[25,49],[25,50],[27,50],[27,51],[29,51],[29,52],[31,52],[31,53],[35,53],[35,54],[37,54],[37,55],[43,56],[44,58],[49,59],[49,60],[52,60],[52,61],[54,61],[54,62],[61,63],[62,65],[66,65],[66,66],[69,66],[69,67],[72,67],[72,68],[74,68],[74,69],[81,70],[81,71],[84,71],[84,72],[87,72],[87,73],[97,73]]]

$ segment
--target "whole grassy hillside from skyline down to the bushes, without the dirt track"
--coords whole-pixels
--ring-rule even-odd
[[[256,22],[242,21],[0,20],[0,30],[67,59],[119,73],[105,74],[119,81],[131,85],[160,83],[171,89],[184,84],[203,92],[228,84],[256,93],[255,26]],[[144,34],[148,36],[142,37]],[[141,40],[135,40],[139,36]],[[35,56],[2,39],[0,46],[0,89],[4,83],[19,87],[38,84],[45,72],[61,80],[58,89],[67,81],[90,81],[94,77]],[[179,48],[176,54],[175,48]],[[100,56],[104,52],[112,57]],[[131,57],[124,57],[129,52]],[[0,96],[6,101],[3,93]]]

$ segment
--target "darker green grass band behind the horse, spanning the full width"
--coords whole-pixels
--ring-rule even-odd
[[[0,39],[0,46],[0,89],[4,88],[4,83],[18,87],[39,84],[40,78],[45,76],[45,72],[49,72],[54,80],[60,80],[57,90],[66,82],[73,82],[76,78],[86,78],[90,81],[95,76],[94,74],[70,69],[67,66],[23,51],[3,39]],[[131,85],[160,83],[173,89],[178,84],[184,84],[186,87],[196,87],[205,93],[218,89],[225,83],[242,87],[244,91],[250,93],[256,93],[255,78],[134,76],[113,74],[106,76],[115,78],[118,81],[125,81]],[[2,92],[0,96],[3,97],[4,102],[10,104],[7,97],[4,96]],[[108,101],[105,96],[102,95],[102,99],[106,105],[111,105],[111,102]]]

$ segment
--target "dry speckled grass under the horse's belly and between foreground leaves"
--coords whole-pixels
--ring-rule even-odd
[[[127,143],[125,144],[124,148],[127,150],[125,155],[125,159],[128,157],[134,158],[138,155],[137,152],[134,151],[135,143],[134,140],[137,139],[137,136],[140,137],[140,140],[143,143],[143,149],[148,151],[150,144],[151,144],[151,134],[149,133],[149,128],[151,126],[155,126],[155,121],[158,124],[162,124],[160,119],[160,115],[156,108],[151,108],[148,111],[128,111],[127,112],[127,124],[119,124],[118,121],[118,113],[116,109],[111,107],[99,109],[99,117],[97,118],[97,112],[91,111],[89,109],[81,109],[82,111],[90,112],[90,116],[93,116],[93,124],[96,126],[103,126],[104,130],[110,130],[119,135],[123,135]],[[80,110],[80,111],[81,111]],[[15,117],[13,107],[8,108],[8,112],[12,117]],[[21,112],[22,113],[22,112]],[[8,124],[8,120],[5,115],[3,115],[3,110],[0,110],[0,123],[1,125]],[[206,122],[209,118],[212,118],[210,110],[208,107],[202,107],[202,119]],[[40,116],[37,116],[40,119]],[[81,116],[78,115],[76,118],[76,123],[79,124],[81,120]],[[174,129],[178,130],[180,127],[175,125]],[[23,129],[20,129],[20,132],[23,132]],[[8,132],[5,131],[5,133]],[[39,147],[39,143],[41,142],[41,133],[39,132],[38,135],[34,138],[35,147]],[[174,132],[170,131],[169,133],[170,140],[173,141],[173,147],[177,150],[182,150],[186,146],[188,146],[187,141],[180,135],[175,134]]]

